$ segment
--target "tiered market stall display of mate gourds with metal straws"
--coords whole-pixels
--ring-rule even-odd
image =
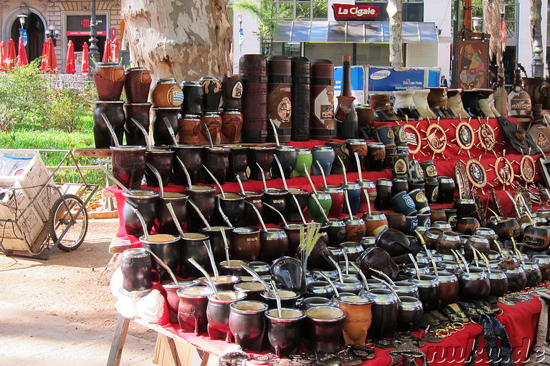
[[[540,184],[542,177],[535,173],[538,167],[529,156],[535,153],[532,149],[520,148],[522,155],[507,153],[503,141],[509,134],[500,126],[509,127],[514,120],[487,117],[498,113],[492,108],[492,93],[454,93],[449,95],[454,98],[450,105],[447,89],[432,88],[419,94],[427,104],[419,105],[420,109],[411,104],[412,93],[401,93],[397,111],[388,104],[389,94],[371,95],[374,121],[358,121],[358,125],[377,142],[358,139],[357,134],[324,141],[332,137],[328,132],[314,135],[322,127],[318,122],[311,124],[311,134],[319,140],[287,141],[292,126],[283,126],[287,120],[275,117],[289,117],[292,122],[292,109],[285,100],[292,100],[292,94],[286,94],[292,90],[288,83],[292,63],[281,56],[261,60],[259,55],[243,56],[241,62],[243,142],[256,144],[214,146],[219,131],[203,124],[210,146],[188,147],[195,151],[195,159],[190,159],[187,146],[177,145],[190,133],[180,130],[180,141],[173,139],[162,147],[172,155],[172,163],[155,164],[146,155],[156,170],[166,168],[161,187],[154,187],[159,176],[148,174],[146,186],[132,191],[134,196],[148,196],[153,190],[153,196],[159,196],[152,198],[154,208],[131,207],[134,196],[109,188],[119,209],[126,210],[119,236],[133,247],[149,248],[153,260],[158,256],[166,264],[166,268],[155,264],[146,271],[151,288],[161,290],[160,279],[186,279],[185,287],[176,293],[179,306],[173,293],[168,299],[166,292],[172,321],[166,307],[157,323],[214,354],[220,354],[218,347],[223,345],[206,339],[206,334],[241,345],[254,357],[272,350],[274,357],[290,358],[296,365],[326,364],[333,358],[342,365],[347,358],[358,364],[373,357],[372,362],[382,365],[387,364],[388,355],[399,357],[405,352],[410,356],[412,351],[419,358],[426,354],[428,359],[447,358],[448,354],[434,355],[431,347],[451,339],[466,344],[469,336],[480,333],[480,325],[472,322],[483,323],[487,342],[489,328],[503,325],[514,346],[520,335],[533,338],[538,309],[531,306],[531,299],[536,291],[548,289],[540,285],[544,260],[528,260],[544,255],[550,233],[545,231],[547,218],[536,221],[537,213],[531,208],[520,214],[514,209],[516,200],[510,200],[506,191],[519,184]],[[249,64],[263,66],[254,69]],[[325,64],[311,62],[311,91],[316,95],[315,88],[325,91],[331,86],[329,73],[320,67]],[[314,82],[318,73],[327,78]],[[227,93],[225,82],[201,80],[204,95],[206,84],[210,92]],[[198,91],[198,84],[193,86]],[[256,93],[252,87],[284,88],[285,93]],[[464,102],[458,110],[469,116],[452,111],[459,104],[457,94]],[[259,95],[271,96],[265,105],[252,102]],[[270,106],[275,97],[281,108]],[[210,110],[217,110],[216,100]],[[355,113],[351,102],[349,110],[340,103],[336,115],[327,109],[324,116],[337,125],[347,122],[348,113]],[[184,98],[181,111],[189,111],[193,103],[192,98]],[[436,118],[415,114],[423,110]],[[274,128],[266,128],[267,118],[262,122],[262,116],[268,116]],[[341,127],[336,131],[342,133]],[[275,144],[257,144],[268,136]],[[502,206],[498,215],[485,205],[487,185],[494,187],[491,201]],[[161,225],[166,218],[169,221],[170,192],[176,192],[186,207],[186,214],[180,209],[179,215],[172,216],[172,222],[184,228],[181,232],[178,225],[171,229]],[[528,196],[541,207],[539,192],[531,190]],[[135,227],[130,229],[131,225]],[[147,239],[157,235],[167,238]],[[174,241],[177,255],[168,251],[168,243]],[[158,248],[165,245],[163,253]],[[226,274],[221,275],[222,271]],[[192,279],[199,283],[187,286]],[[500,311],[522,301],[531,306],[532,312],[522,313],[533,318],[530,323],[519,314],[512,317]],[[357,326],[351,321],[355,312],[364,312],[371,321]],[[525,333],[510,328],[510,322],[520,318],[532,325]],[[301,343],[292,337],[303,330],[300,322],[310,328]],[[267,338],[262,344],[264,332]],[[467,358],[470,354],[465,353]]]

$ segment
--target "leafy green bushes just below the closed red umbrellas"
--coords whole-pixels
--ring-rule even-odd
[[[80,116],[91,111],[94,91],[52,88],[39,62],[0,73],[0,130],[82,128]]]

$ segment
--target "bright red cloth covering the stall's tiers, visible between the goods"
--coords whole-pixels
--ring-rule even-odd
[[[415,124],[415,122],[413,122],[413,124]],[[440,121],[440,124],[444,129],[449,128],[449,130],[447,131],[448,141],[454,139],[454,128],[451,126],[451,124],[456,124],[456,121],[442,120]],[[496,119],[490,119],[489,124],[493,127],[496,127],[498,122],[496,122]],[[418,128],[422,137],[425,137],[425,133],[423,131],[426,130],[427,126],[428,122],[419,123]],[[478,128],[478,122],[472,120],[472,127],[474,128],[474,130],[476,130]],[[500,127],[496,130],[496,140],[500,142],[505,141],[505,137],[501,133]],[[291,145],[295,147],[313,148],[316,145],[323,144],[324,141],[312,140],[307,142],[293,142]],[[495,148],[496,153],[500,155],[503,152],[503,148],[503,145],[497,145]],[[507,148],[506,150],[506,157],[509,159],[509,161],[519,161],[521,159],[521,156],[517,155],[513,150],[511,150],[511,148]],[[425,156],[422,154],[418,154],[416,156],[419,161],[425,161],[432,158],[432,154],[429,153],[426,149],[423,149],[423,152],[426,154]],[[459,148],[456,148],[456,146],[449,146],[448,149],[445,150],[445,155],[449,158],[449,160],[445,161],[439,156],[434,157],[439,176],[454,177],[454,165],[456,164],[456,161],[467,161],[467,154],[465,152],[462,152],[461,155],[458,155],[458,152]],[[514,154],[512,154],[512,152],[514,152]],[[492,153],[485,154],[485,152],[482,152],[477,147],[474,147],[470,153],[472,157],[475,157],[476,159],[478,159],[479,155],[481,155],[481,163],[483,163],[487,170],[492,169],[491,167],[489,167],[489,164],[494,164],[494,161],[496,159]],[[514,173],[519,174],[518,166],[516,164],[514,164]],[[349,181],[355,181],[355,179],[358,179],[357,173],[349,173],[347,175]],[[371,181],[376,181],[379,178],[391,178],[391,175],[392,174],[390,170],[384,170],[382,172],[364,172],[363,178],[370,179]],[[492,180],[494,178],[494,172],[487,172],[487,180],[490,183],[493,183]],[[541,179],[542,178],[540,174],[538,174],[537,180],[540,181]],[[314,185],[316,187],[320,187],[323,184],[321,176],[312,176],[312,180],[314,181]],[[340,183],[342,183],[343,177],[340,175],[331,175],[327,176],[327,181],[329,185],[339,185]],[[298,187],[311,191],[311,187],[309,186],[307,179],[304,177],[294,177],[288,181],[288,184],[290,187]],[[263,183],[261,181],[248,181],[244,182],[243,185],[245,187],[245,190],[250,191],[261,190],[263,188]],[[281,179],[274,179],[272,181],[267,181],[267,186],[283,187],[283,182]],[[144,188],[158,190],[158,188]],[[490,188],[491,187],[487,186],[485,193],[488,193],[490,191]],[[126,238],[127,236],[124,230],[124,221],[122,220],[122,207],[124,205],[122,190],[118,189],[118,187],[109,187],[108,189],[111,192],[115,193],[117,200],[120,217],[118,236]],[[505,209],[505,212],[512,214],[512,205],[509,202],[509,199],[507,198],[505,192],[502,190],[502,186],[500,185],[500,183],[496,183],[495,189],[497,190],[498,197],[503,204],[503,209]],[[183,187],[169,185],[168,187],[166,187],[165,190],[166,192],[183,192]],[[223,185],[223,190],[225,192],[239,192],[239,185],[237,183],[225,183],[225,185]],[[480,195],[482,201],[485,202],[485,200],[487,199],[487,195],[482,194],[482,192],[480,192]],[[436,205],[433,207],[435,208],[451,206],[452,205]],[[136,245],[139,245],[139,243],[137,242],[137,238],[132,237],[130,238],[130,240]],[[501,309],[503,309],[503,314],[499,315],[497,318],[500,320],[501,323],[503,323],[508,332],[514,356],[514,363],[515,365],[522,365],[522,363],[525,362],[529,350],[532,347],[532,340],[535,336],[536,325],[540,313],[540,302],[535,299],[529,303],[519,303],[515,306],[507,306],[503,304],[499,304],[499,306]],[[178,324],[173,324],[168,321],[167,311],[166,316],[163,317],[161,321],[159,321],[159,324],[164,326],[164,328],[166,328],[167,330],[170,330],[170,332],[181,336],[181,338],[185,339],[192,345],[195,345],[195,347],[199,347],[201,350],[211,352],[212,354],[219,355],[228,347],[228,343],[225,343],[224,341],[211,341],[210,339],[208,339],[208,334],[206,333],[201,334],[200,336],[195,336],[195,334],[181,332]],[[430,361],[431,365],[464,365],[465,358],[470,355],[470,352],[472,350],[475,336],[481,331],[481,325],[476,325],[473,323],[467,324],[464,330],[461,330],[459,332],[456,332],[455,334],[446,337],[445,339],[443,339],[443,341],[441,341],[441,343],[426,343],[426,345],[422,347],[422,350],[428,355],[428,361]],[[422,332],[422,330],[419,332],[415,332],[415,335],[420,336]],[[485,343],[482,336],[480,341],[480,350],[483,350],[484,344]],[[306,342],[304,342],[303,345],[307,347]],[[267,343],[264,343],[263,345],[263,352],[269,352],[269,345]],[[363,365],[389,365],[390,357],[388,356],[388,352],[389,350],[377,349],[375,351],[375,359],[365,362],[363,363]],[[488,365],[487,354],[479,354],[476,365]]]

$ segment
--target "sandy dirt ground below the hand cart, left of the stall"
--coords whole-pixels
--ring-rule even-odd
[[[70,253],[56,249],[50,260],[0,254],[1,300],[113,331],[118,317],[115,297],[109,286],[98,285],[98,277],[111,259],[109,243],[117,229],[118,219],[90,220],[80,248]],[[157,339],[156,332],[133,321],[129,334],[151,342]]]

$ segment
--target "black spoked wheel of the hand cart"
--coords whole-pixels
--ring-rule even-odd
[[[83,210],[76,216],[81,207]],[[67,230],[58,244],[59,249],[74,251],[80,247],[88,231],[88,213],[83,201],[74,194],[59,197],[50,211],[49,225],[54,243]]]

